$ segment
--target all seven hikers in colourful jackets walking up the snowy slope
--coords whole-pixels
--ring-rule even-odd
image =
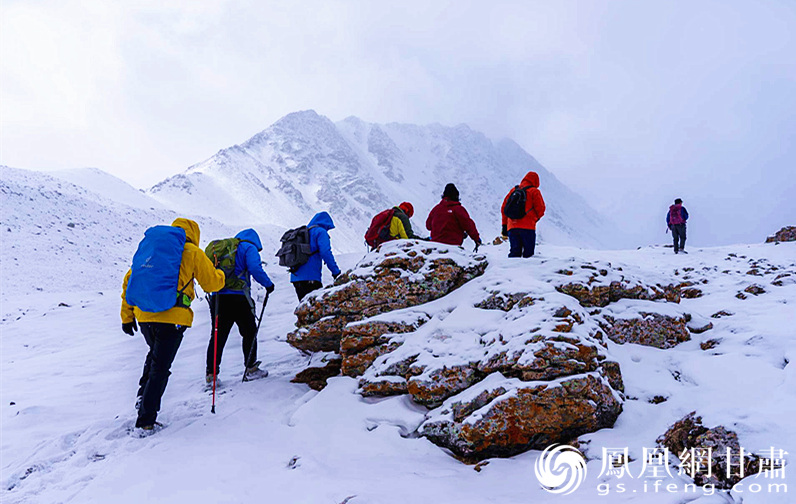
[[[685,252],[688,213],[681,203],[679,199],[675,201],[666,219],[675,236],[675,252]],[[544,213],[539,175],[528,172],[506,194],[501,205],[501,235],[509,241],[509,257],[534,255],[536,223]],[[470,237],[475,242],[474,252],[482,244],[475,222],[461,204],[459,190],[452,183],[445,186],[442,199],[426,219],[429,237],[415,234],[410,221],[413,215],[414,207],[409,202],[380,212],[365,234],[366,243],[376,248],[396,239],[422,239],[461,246]],[[306,226],[282,236],[282,246],[277,252],[279,264],[290,269],[290,282],[299,302],[323,287],[323,264],[332,277],[337,278],[341,273],[332,253],[329,238],[332,229],[332,217],[319,212]],[[170,226],[149,228],[124,277],[122,331],[133,336],[140,327],[149,347],[136,399],[135,426],[145,431],[160,425],[156,420],[171,365],[185,330],[193,322],[194,280],[209,293],[213,330],[207,345],[205,379],[213,385],[214,401],[221,357],[233,325],[238,327],[243,340],[243,381],[268,375],[257,360],[257,332],[263,313],[259,319],[256,317],[251,297],[252,277],[266,290],[263,309],[274,290],[274,283],[262,267],[260,237],[254,229],[245,229],[234,238],[210,242],[203,251],[199,248],[199,236],[197,223],[185,218],[175,219]]]

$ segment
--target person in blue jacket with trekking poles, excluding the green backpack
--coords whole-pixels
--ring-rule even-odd
[[[235,252],[235,269],[233,275],[245,282],[245,287],[240,290],[224,288],[213,294],[208,300],[210,305],[210,319],[215,320],[216,299],[218,296],[218,342],[213,344],[213,332],[210,333],[210,343],[207,345],[207,368],[205,379],[207,383],[213,382],[213,360],[216,361],[216,375],[221,368],[221,354],[229,338],[232,325],[238,326],[238,332],[243,337],[243,360],[246,367],[244,379],[254,380],[265,378],[268,371],[260,369],[257,360],[257,323],[255,320],[254,301],[251,298],[251,277],[265,287],[270,294],[274,290],[274,283],[263,270],[260,251],[263,249],[260,236],[253,229],[244,229],[235,235],[240,243]],[[217,353],[216,353],[217,352]]]

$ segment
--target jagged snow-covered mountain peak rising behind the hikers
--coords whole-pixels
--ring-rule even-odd
[[[412,202],[415,227],[425,232],[449,182],[491,240],[503,197],[529,170],[539,173],[547,203],[542,241],[616,246],[607,222],[519,145],[493,142],[466,125],[380,125],[356,117],[334,123],[312,110],[296,112],[149,192],[166,206],[237,224],[295,227],[328,210],[338,227],[335,248],[361,251],[373,215],[401,201]]]

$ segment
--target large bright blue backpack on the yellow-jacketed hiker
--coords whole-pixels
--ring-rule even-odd
[[[127,281],[127,304],[145,312],[162,312],[175,306],[190,306],[179,290],[180,264],[185,248],[185,230],[154,226],[146,230],[133,256]],[[190,284],[190,282],[189,282]],[[186,284],[185,287],[188,285]],[[185,287],[182,290],[185,290]]]

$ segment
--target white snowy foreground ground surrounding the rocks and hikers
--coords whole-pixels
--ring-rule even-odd
[[[43,233],[49,239],[58,231]],[[764,477],[744,480],[764,485],[763,490],[730,497],[699,487],[684,490],[689,479],[677,475],[676,467],[661,488],[637,476],[643,449],[654,447],[669,425],[693,410],[706,425],[736,431],[747,450],[773,446],[794,452],[796,244],[692,249],[688,256],[664,248],[550,246],[546,257],[530,261],[506,259],[505,247],[485,247],[490,267],[481,281],[505,284],[535,272],[544,278],[569,258],[609,261],[656,279],[695,282],[705,294],[682,300],[691,313],[732,313],[710,319],[712,330],[667,350],[609,343],[622,368],[627,400],[614,428],[580,438],[589,458],[587,473],[570,496],[539,486],[534,476],[539,451],[474,467],[412,435],[426,409],[406,396],[365,399],[356,393],[356,380],[346,377],[333,378],[320,393],[290,383],[308,358],[285,342],[295,321],[295,297],[280,277],[259,335],[259,356],[270,376],[240,383],[242,356],[233,336],[222,364],[217,414],[210,413],[204,352],[211,322],[199,301],[164,396],[160,420],[167,427],[143,439],[131,433],[131,425],[146,345],[140,335],[121,333],[118,289],[105,295],[93,288],[58,294],[23,289],[26,296],[5,298],[0,499],[9,504],[792,502],[789,493],[766,490],[772,480]],[[344,256],[341,263],[350,267],[360,257]],[[747,274],[753,265],[762,276]],[[21,256],[18,266],[48,280],[31,258]],[[791,276],[782,277],[781,285],[771,283],[784,273]],[[767,292],[735,297],[752,283]],[[471,291],[454,291],[448,304],[471,306]],[[434,316],[443,320],[456,313]],[[709,340],[715,346],[701,349]],[[602,449],[621,447],[629,450],[633,477],[601,476]],[[792,488],[795,479],[788,470],[782,482]],[[606,483],[603,495],[606,487],[598,485]],[[675,491],[665,490],[670,484]]]

